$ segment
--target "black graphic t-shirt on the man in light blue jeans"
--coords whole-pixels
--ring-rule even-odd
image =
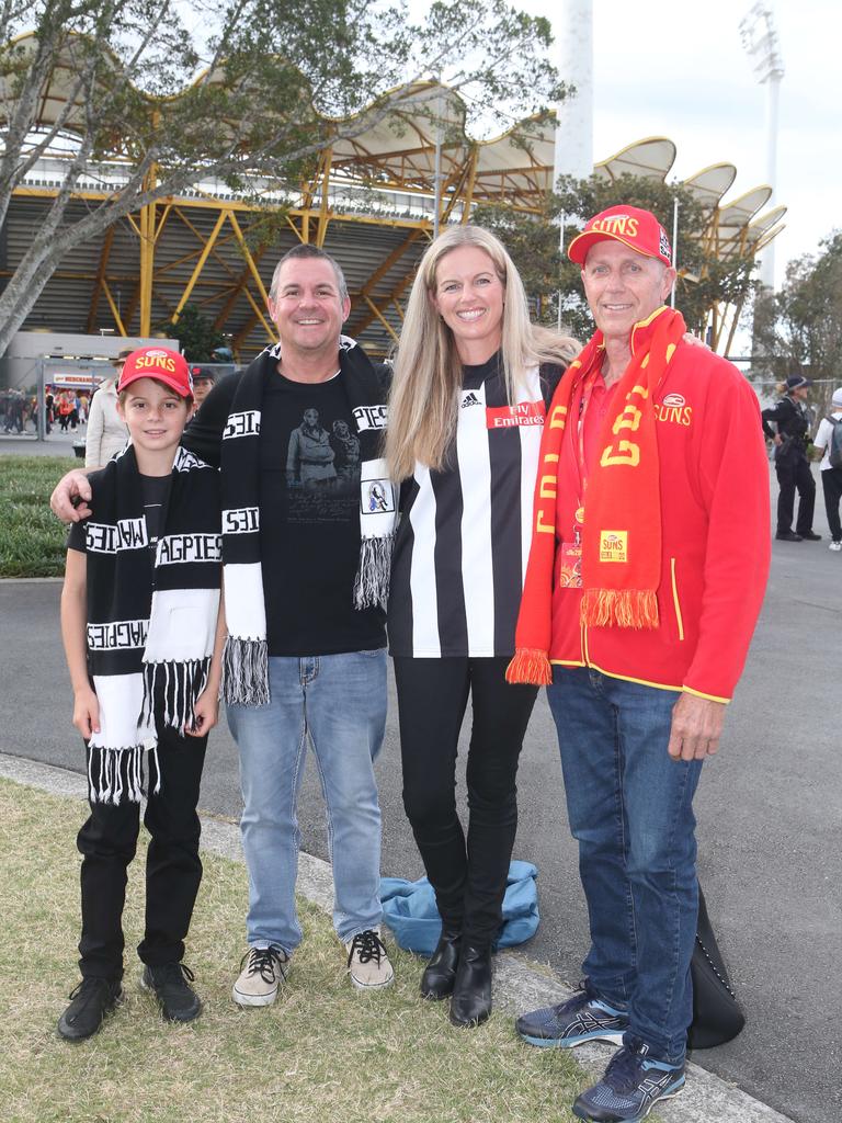
[[[182,444],[219,464],[239,375],[221,380]],[[291,382],[267,371],[260,416],[260,560],[269,655],[384,647],[384,613],[354,608],[359,563],[359,440],[337,375]]]

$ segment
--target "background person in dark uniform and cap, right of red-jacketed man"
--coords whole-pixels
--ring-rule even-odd
[[[775,444],[775,474],[778,477],[778,529],[781,542],[817,542],[813,530],[816,485],[807,459],[809,411],[807,395],[813,383],[799,374],[779,387],[782,396],[760,414],[763,432]],[[772,424],[775,428],[772,429]],[[798,518],[793,530],[795,493],[798,492]]]

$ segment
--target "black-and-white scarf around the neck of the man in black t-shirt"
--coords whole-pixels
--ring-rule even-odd
[[[222,432],[222,558],[228,640],[222,692],[228,703],[269,701],[266,609],[263,594],[259,511],[260,410],[265,378],[275,372],[281,346],[267,347],[242,373]],[[397,520],[396,490],[381,458],[386,390],[354,339],[339,339],[339,369],[360,445],[360,549],[354,585],[357,609],[386,606]]]

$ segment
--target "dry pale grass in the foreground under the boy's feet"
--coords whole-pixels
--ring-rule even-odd
[[[55,463],[55,462],[52,462]],[[139,987],[143,852],[129,877],[126,1001],[86,1042],[55,1032],[77,980],[84,804],[0,780],[0,1117],[4,1123],[555,1123],[584,1086],[573,1058],[529,1049],[511,1015],[457,1030],[418,994],[420,960],[394,951],[396,982],[357,994],[332,928],[301,904],[304,941],[284,995],[240,1010],[241,865],[204,853],[185,961],[204,999],[165,1023]],[[390,941],[390,951],[394,948]]]

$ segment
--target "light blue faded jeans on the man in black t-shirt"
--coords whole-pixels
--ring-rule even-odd
[[[240,755],[249,947],[290,952],[295,913],[295,805],[308,739],[319,768],[333,867],[333,926],[344,942],[382,917],[381,811],[374,759],[386,723],[386,651],[269,658],[271,702],[228,706]]]

